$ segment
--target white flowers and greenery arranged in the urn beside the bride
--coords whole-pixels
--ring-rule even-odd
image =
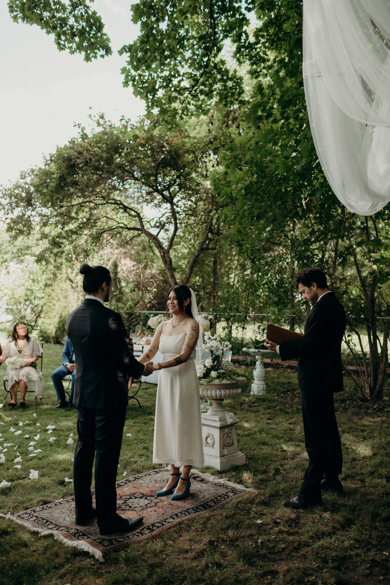
[[[231,362],[223,359],[224,353],[229,351],[231,346],[228,341],[222,341],[218,333],[211,335],[206,332],[204,334],[204,349],[208,350],[211,356],[197,365],[196,370],[199,380],[203,380],[204,384],[208,384],[211,381],[222,383],[223,381],[236,380],[237,378],[251,380],[248,373],[238,370]]]

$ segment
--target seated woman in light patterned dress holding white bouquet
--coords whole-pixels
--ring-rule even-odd
[[[36,395],[42,393],[42,374],[36,367],[36,361],[42,353],[42,348],[36,339],[29,336],[29,329],[23,321],[19,321],[13,326],[11,340],[5,344],[3,353],[0,356],[0,363],[5,362],[7,357],[21,357],[25,366],[18,369],[7,367],[8,388],[11,392],[12,400],[8,406],[16,406],[18,397],[18,388],[20,390],[20,407],[26,406],[26,392],[30,381],[36,381],[38,391]]]

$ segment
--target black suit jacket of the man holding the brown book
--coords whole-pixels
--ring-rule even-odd
[[[346,328],[343,305],[327,292],[313,305],[304,337],[279,346],[281,360],[298,357],[298,386],[303,392],[343,390],[341,344]]]

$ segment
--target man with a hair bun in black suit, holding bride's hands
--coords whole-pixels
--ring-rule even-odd
[[[76,524],[95,514],[101,535],[128,532],[142,522],[117,514],[116,475],[126,420],[127,376],[153,371],[128,350],[119,313],[104,306],[112,291],[110,271],[82,264],[85,299],[67,320],[67,335],[76,362],[73,403],[78,412],[73,480]],[[96,510],[92,507],[92,466],[95,457]]]

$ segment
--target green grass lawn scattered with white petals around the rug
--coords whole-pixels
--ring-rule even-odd
[[[53,409],[50,378],[61,352],[60,346],[44,346],[41,402],[34,407],[33,394],[27,394],[25,411],[2,409],[12,421],[0,425],[0,446],[13,443],[0,464],[0,483],[11,481],[0,488],[3,514],[72,495],[65,477],[73,477],[75,443],[67,441],[71,433],[76,441],[76,411]],[[2,366],[1,378],[4,372]],[[254,398],[246,387],[226,404],[241,419],[236,431],[245,466],[221,473],[201,469],[255,487],[257,494],[107,555],[104,563],[0,518],[1,585],[390,583],[388,388],[381,403],[364,405],[346,380],[347,390],[335,398],[345,494],[325,495],[322,507],[292,511],[281,501],[297,495],[307,466],[297,374],[267,370],[266,383],[266,396]],[[125,471],[131,476],[158,467],[152,464],[155,393],[156,386],[142,384],[142,408],[131,401],[127,409],[119,479]],[[55,425],[52,433],[48,425]],[[15,435],[11,426],[22,433]],[[31,441],[32,453],[41,449],[33,457]],[[16,453],[23,459],[20,469],[14,467]],[[29,479],[30,469],[38,470],[38,479]]]

